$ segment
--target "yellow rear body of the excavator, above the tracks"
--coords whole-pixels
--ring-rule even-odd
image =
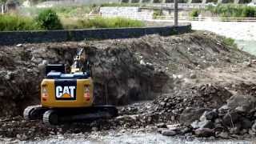
[[[73,79],[76,82],[75,88],[66,88],[66,80],[61,80],[62,86],[55,86],[56,79],[44,79],[41,83],[41,104],[44,107],[49,108],[71,108],[71,107],[89,107],[92,106],[94,101],[94,85],[91,78],[86,79]],[[58,80],[60,81],[60,80]],[[59,88],[59,90],[58,90]],[[70,92],[75,90],[75,92]],[[58,94],[59,93],[59,94]],[[73,95],[73,99],[69,98],[70,94]],[[59,99],[57,98],[59,95]]]

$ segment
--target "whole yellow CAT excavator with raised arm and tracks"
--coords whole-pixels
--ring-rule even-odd
[[[66,71],[69,73],[66,74]],[[62,64],[47,65],[41,83],[41,105],[28,106],[26,120],[42,119],[48,125],[118,116],[115,106],[94,105],[94,83],[90,62],[79,49],[70,70]]]

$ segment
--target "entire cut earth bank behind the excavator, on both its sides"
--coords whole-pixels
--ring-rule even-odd
[[[0,115],[21,114],[38,103],[46,63],[70,66],[78,48],[90,55],[98,103],[125,105],[153,99],[177,85],[173,74],[244,62],[248,54],[230,49],[214,34],[3,46],[0,53]],[[228,59],[228,61],[227,61]]]

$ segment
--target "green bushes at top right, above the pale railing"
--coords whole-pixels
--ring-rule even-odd
[[[238,4],[219,4],[218,6],[206,6],[213,14],[223,18],[256,18],[256,7]]]

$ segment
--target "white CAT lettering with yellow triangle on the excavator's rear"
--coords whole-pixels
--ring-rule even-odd
[[[56,86],[57,99],[75,99],[75,86]]]

